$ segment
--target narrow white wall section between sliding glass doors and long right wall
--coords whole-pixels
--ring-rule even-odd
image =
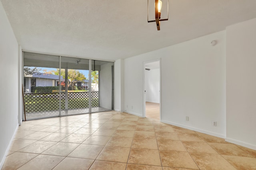
[[[124,108],[124,60],[114,63],[114,109],[123,112]]]

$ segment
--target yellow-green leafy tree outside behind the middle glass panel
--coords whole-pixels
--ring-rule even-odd
[[[53,71],[55,75],[59,75],[59,72],[60,72],[60,75],[63,78],[65,78],[65,69],[61,69],[60,71],[59,69],[57,69],[56,71]],[[76,82],[86,80],[86,77],[84,76],[83,73],[79,72],[79,70],[68,69],[68,80],[69,81],[65,84],[68,85],[68,88],[71,85],[73,90]]]

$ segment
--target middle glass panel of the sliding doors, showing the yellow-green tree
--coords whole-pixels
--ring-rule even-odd
[[[64,78],[61,115],[89,113],[89,60],[61,57]]]

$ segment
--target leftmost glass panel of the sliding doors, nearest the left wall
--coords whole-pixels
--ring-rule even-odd
[[[24,52],[26,119],[59,116],[59,56]]]

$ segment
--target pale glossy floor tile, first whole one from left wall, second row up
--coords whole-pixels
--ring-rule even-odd
[[[42,153],[46,149],[52,147],[55,145],[57,142],[52,142],[52,141],[36,141],[20,150],[18,152],[28,152],[28,153]]]

